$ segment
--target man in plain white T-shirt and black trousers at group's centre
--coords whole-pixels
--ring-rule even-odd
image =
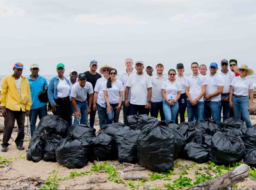
[[[130,105],[130,115],[149,114],[151,108],[152,82],[151,78],[143,73],[143,62],[136,61],[136,73],[129,77],[125,88],[125,106]],[[131,101],[128,101],[131,89]]]

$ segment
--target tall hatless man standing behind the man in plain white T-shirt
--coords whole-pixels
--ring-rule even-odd
[[[123,98],[123,117],[124,117],[124,125],[127,125],[127,116],[130,115],[130,100],[131,100],[131,90],[129,91],[129,95],[128,95],[128,105],[125,106],[124,101],[125,101],[125,87],[126,87],[126,83],[129,79],[129,77],[131,75],[133,75],[134,73],[136,73],[136,69],[132,68],[133,62],[131,58],[127,58],[125,59],[125,66],[126,69],[124,71],[122,71],[122,73],[120,73],[119,76],[119,80],[123,83],[123,87],[124,87],[124,98]]]

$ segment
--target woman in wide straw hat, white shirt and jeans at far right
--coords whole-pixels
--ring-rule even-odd
[[[241,67],[234,68],[234,70],[240,74],[240,76],[234,77],[231,82],[230,94],[229,94],[229,106],[233,108],[236,119],[241,119],[241,113],[243,115],[246,127],[252,127],[250,120],[250,112],[253,108],[253,81],[248,77],[253,75],[253,70],[249,69],[246,64]],[[248,91],[250,99],[248,98]]]

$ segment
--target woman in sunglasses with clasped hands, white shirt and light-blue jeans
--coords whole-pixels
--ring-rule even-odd
[[[177,101],[180,98],[181,86],[179,82],[175,81],[175,75],[175,69],[170,69],[168,72],[169,80],[165,80],[161,87],[164,97],[163,110],[165,122],[173,121],[175,123],[179,110],[179,103]]]

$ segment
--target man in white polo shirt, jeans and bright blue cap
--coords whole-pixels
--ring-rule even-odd
[[[209,66],[210,74],[206,76],[207,88],[204,95],[204,118],[211,118],[218,124],[221,122],[221,93],[224,79],[218,71],[218,64],[212,62]]]

